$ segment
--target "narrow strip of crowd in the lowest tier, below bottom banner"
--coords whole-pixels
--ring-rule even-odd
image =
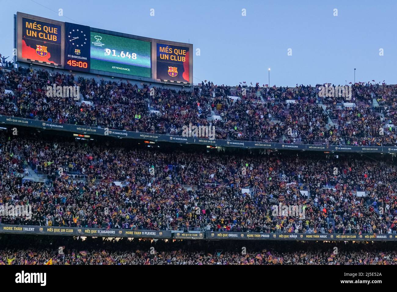
[[[83,241],[57,236],[7,236],[0,265],[395,265],[390,243]],[[28,243],[28,244],[27,244]],[[246,252],[242,252],[242,246]],[[337,249],[335,249],[335,247]],[[337,250],[337,252],[335,252]]]

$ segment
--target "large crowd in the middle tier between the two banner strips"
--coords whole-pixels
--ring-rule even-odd
[[[29,204],[33,214],[0,217],[0,223],[390,234],[397,232],[397,167],[388,159],[204,153],[3,131],[0,204]],[[21,177],[33,171],[47,174],[51,184]],[[280,203],[303,206],[304,218],[276,215]]]

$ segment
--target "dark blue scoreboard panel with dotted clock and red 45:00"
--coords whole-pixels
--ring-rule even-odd
[[[90,71],[90,27],[65,23],[65,69]]]

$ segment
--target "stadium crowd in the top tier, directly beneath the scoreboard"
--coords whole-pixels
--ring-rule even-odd
[[[85,102],[47,96],[47,86],[54,84],[79,86]],[[290,88],[259,87],[257,83],[255,87],[240,84],[232,88],[208,81],[191,91],[153,87],[153,95],[150,85],[105,81],[99,76],[87,79],[45,69],[0,68],[0,114],[175,135],[181,135],[182,127],[189,124],[215,126],[216,139],[331,145],[397,143],[394,85],[356,83],[351,99],[355,105],[343,103],[340,97],[319,96],[320,84]],[[220,118],[210,118],[214,115]]]

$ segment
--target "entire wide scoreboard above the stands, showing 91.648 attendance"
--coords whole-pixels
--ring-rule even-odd
[[[143,81],[193,84],[193,44],[17,12],[17,61]]]

